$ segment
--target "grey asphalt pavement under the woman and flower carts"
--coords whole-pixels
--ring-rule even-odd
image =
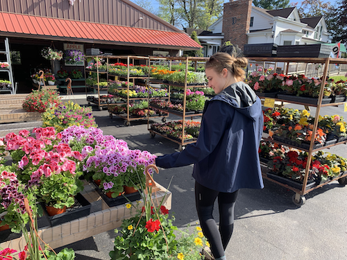
[[[78,99],[87,105],[85,99]],[[292,106],[304,109],[303,106]],[[315,110],[310,111],[314,115]],[[148,150],[155,155],[178,151],[178,144],[160,136],[151,138],[146,121],[132,121],[126,127],[118,116],[110,119],[108,111],[93,107],[93,114],[104,135],[128,142],[129,148]],[[347,119],[344,107],[323,107],[321,114],[339,114]],[[168,120],[180,119],[169,116]],[[160,119],[153,119],[160,122]],[[328,151],[347,157],[346,145]],[[171,214],[176,225],[194,229],[198,216],[194,202],[193,166],[162,169],[155,181],[168,187],[172,195]],[[308,193],[305,205],[291,201],[293,191],[264,180],[264,189],[242,189],[235,205],[235,227],[226,249],[228,260],[345,260],[347,259],[347,187],[337,181]],[[215,218],[219,219],[215,205]],[[110,259],[115,233],[113,230],[92,236],[65,247],[73,248],[76,260]]]

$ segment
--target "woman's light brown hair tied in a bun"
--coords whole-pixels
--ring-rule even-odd
[[[248,64],[248,60],[244,57],[235,58],[228,53],[214,53],[205,63],[205,69],[212,68],[221,73],[224,68],[228,69],[237,80],[244,80],[246,72],[244,67]]]

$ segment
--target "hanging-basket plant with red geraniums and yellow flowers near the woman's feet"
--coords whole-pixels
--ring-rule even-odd
[[[190,235],[180,232],[180,239],[176,239],[178,228],[173,225],[175,218],[169,216],[169,210],[162,205],[163,200],[154,204],[151,187],[142,187],[142,190],[146,190],[146,193],[142,193],[142,202],[129,202],[126,205],[128,209],[136,211],[135,216],[123,220],[121,227],[115,229],[121,236],[115,239],[111,259],[200,259],[201,250],[209,245],[201,227],[196,227]]]

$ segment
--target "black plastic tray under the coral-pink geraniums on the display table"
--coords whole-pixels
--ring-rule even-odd
[[[88,216],[90,214],[90,208],[92,207],[90,202],[86,200],[81,193],[77,193],[77,195],[75,196],[74,206],[67,208],[66,212],[58,214],[56,216],[48,216],[46,207],[44,207],[43,204],[41,205],[44,209],[44,216],[49,219],[51,227],[69,222],[71,220],[75,220],[77,218]]]

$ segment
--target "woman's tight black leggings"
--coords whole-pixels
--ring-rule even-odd
[[[203,187],[195,182],[195,202],[203,234],[211,245],[214,258],[224,256],[234,227],[234,206],[237,193],[225,193]],[[219,229],[212,216],[214,201],[218,197]]]

